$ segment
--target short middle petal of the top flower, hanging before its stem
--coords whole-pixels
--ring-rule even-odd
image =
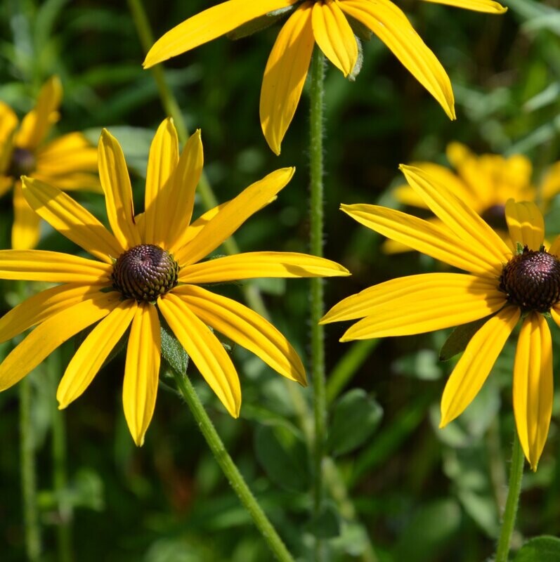
[[[348,76],[358,60],[356,37],[334,0],[313,4],[313,35],[330,62]]]

